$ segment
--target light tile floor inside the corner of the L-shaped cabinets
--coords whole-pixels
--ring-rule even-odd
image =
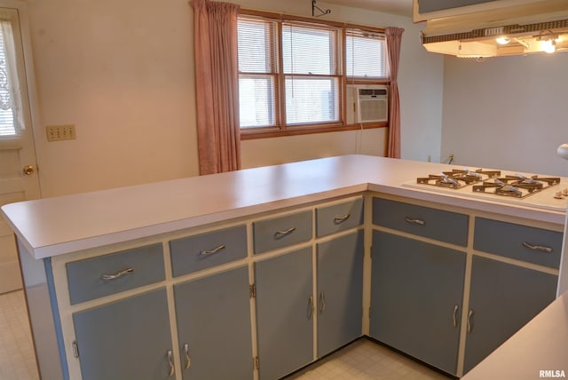
[[[447,380],[437,371],[368,339],[304,368],[286,380]]]

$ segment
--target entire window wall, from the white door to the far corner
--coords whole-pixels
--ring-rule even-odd
[[[243,7],[311,16],[309,1],[241,0]],[[409,18],[335,4],[329,20],[405,28],[399,89],[402,155],[439,156],[443,59]],[[186,0],[29,0],[43,196],[198,174],[193,10]],[[77,139],[48,143],[44,127],[73,123]],[[245,168],[336,154],[384,152],[386,130],[242,144]]]

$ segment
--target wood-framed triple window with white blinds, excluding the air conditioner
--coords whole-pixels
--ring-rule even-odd
[[[362,127],[346,123],[345,94],[351,85],[389,83],[382,29],[241,12],[241,139]]]

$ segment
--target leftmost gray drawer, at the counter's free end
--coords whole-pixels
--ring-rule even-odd
[[[165,278],[162,244],[73,261],[66,268],[71,305]],[[115,278],[105,280],[103,275]]]

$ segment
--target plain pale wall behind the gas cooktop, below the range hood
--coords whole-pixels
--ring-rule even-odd
[[[568,142],[568,54],[447,57],[443,155],[455,162],[568,176],[556,147]]]

